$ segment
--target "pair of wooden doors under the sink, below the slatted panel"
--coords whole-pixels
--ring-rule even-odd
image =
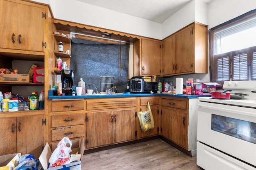
[[[136,109],[88,112],[86,148],[136,139]]]

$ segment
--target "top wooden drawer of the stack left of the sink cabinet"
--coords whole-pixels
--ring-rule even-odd
[[[52,112],[83,110],[84,100],[56,100],[52,101]]]

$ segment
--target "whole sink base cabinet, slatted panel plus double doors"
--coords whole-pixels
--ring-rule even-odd
[[[86,149],[136,140],[136,98],[86,102]]]

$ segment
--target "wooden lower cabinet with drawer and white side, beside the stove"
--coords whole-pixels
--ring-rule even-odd
[[[161,97],[160,135],[196,155],[197,98]]]

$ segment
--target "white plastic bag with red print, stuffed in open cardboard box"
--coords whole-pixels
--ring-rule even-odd
[[[64,164],[69,164],[70,152],[72,147],[72,142],[68,137],[64,137],[58,143],[57,148],[53,151],[49,163],[51,167],[60,166]]]

